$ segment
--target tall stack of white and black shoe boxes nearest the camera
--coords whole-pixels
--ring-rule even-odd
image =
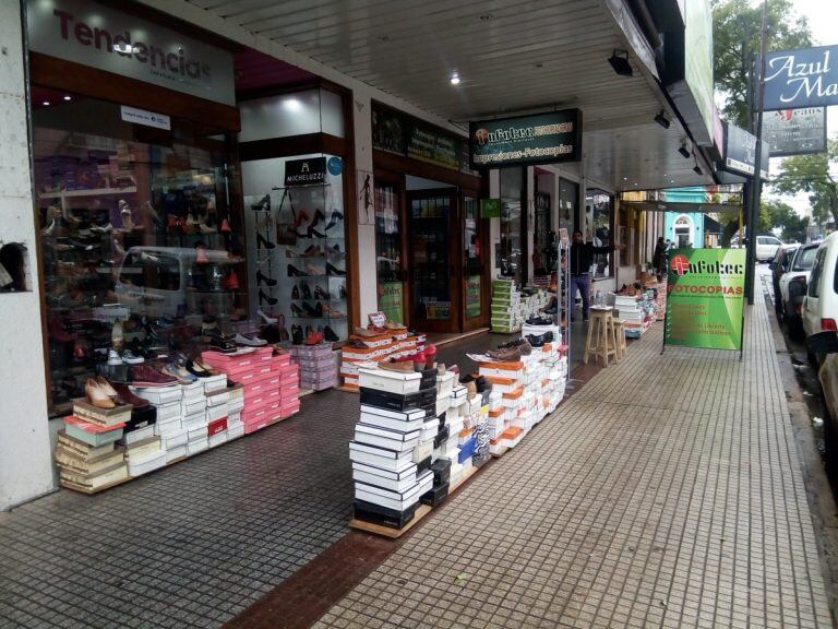
[[[361,414],[349,444],[355,517],[400,529],[433,487],[431,455],[439,428],[435,371],[429,378],[415,371],[361,368],[359,385]]]

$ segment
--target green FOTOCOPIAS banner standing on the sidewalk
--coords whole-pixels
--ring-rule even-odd
[[[673,249],[665,343],[742,349],[744,249]]]

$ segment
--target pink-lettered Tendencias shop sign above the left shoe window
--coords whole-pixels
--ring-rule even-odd
[[[225,105],[232,55],[91,0],[28,0],[29,49]]]

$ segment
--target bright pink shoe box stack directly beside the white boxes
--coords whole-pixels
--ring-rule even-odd
[[[299,367],[288,353],[273,347],[222,354],[204,352],[202,360],[242,388],[241,420],[249,435],[300,411]]]

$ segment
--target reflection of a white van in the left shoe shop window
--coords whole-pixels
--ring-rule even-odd
[[[232,294],[224,278],[241,261],[220,249],[131,247],[117,276],[117,299],[133,313],[152,318],[226,310]]]

